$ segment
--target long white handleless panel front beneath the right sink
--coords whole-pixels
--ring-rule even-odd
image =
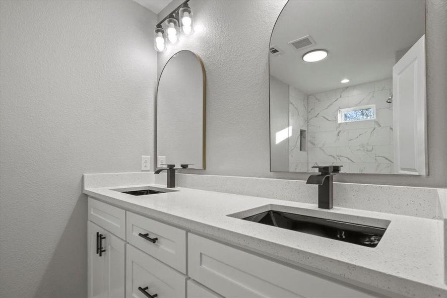
[[[228,298],[373,298],[357,289],[194,235],[189,276]]]

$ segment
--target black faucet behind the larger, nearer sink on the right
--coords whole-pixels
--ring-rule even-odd
[[[333,207],[333,176],[340,172],[342,165],[313,166],[318,168],[319,174],[310,175],[307,184],[318,184],[318,208],[332,209]]]

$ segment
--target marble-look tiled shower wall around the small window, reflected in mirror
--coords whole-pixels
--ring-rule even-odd
[[[392,104],[386,99],[391,89],[392,79],[386,78],[309,95],[309,166],[344,163],[346,172],[390,173]],[[338,123],[340,108],[371,104],[376,106],[376,119]]]

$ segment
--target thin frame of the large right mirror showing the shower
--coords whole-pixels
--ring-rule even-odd
[[[268,48],[267,48],[267,55],[268,55],[268,168],[270,173],[290,173],[290,174],[315,174],[316,172],[291,172],[291,171],[272,171],[271,169],[271,131],[270,131],[270,126],[271,126],[271,109],[270,109],[270,46],[271,46],[271,38],[273,36],[273,31],[275,29],[276,23],[278,22],[279,17],[281,16],[281,13],[283,12],[283,10],[286,8],[287,4],[289,3],[290,0],[287,0],[287,2],[284,3],[284,6],[281,8],[281,11],[279,12],[278,16],[276,17],[275,23],[273,24],[273,27],[271,29],[271,33],[270,33],[270,39],[268,41]],[[424,0],[424,31],[425,31],[425,35],[427,36],[427,0]],[[427,51],[427,42],[425,42],[425,51]],[[381,176],[403,176],[403,177],[428,177],[430,175],[430,169],[428,167],[428,160],[429,160],[429,156],[428,156],[428,132],[427,132],[427,125],[428,125],[428,114],[427,114],[427,99],[428,99],[428,88],[427,88],[427,62],[425,65],[425,152],[426,152],[426,174],[425,175],[411,175],[411,174],[395,174],[395,173],[391,173],[391,174],[385,174],[385,173],[349,173],[349,172],[340,172],[339,174],[343,174],[343,175],[381,175]]]

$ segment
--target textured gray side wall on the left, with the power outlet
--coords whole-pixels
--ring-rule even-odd
[[[156,15],[133,1],[0,5],[0,296],[86,297],[81,177],[153,155]]]

